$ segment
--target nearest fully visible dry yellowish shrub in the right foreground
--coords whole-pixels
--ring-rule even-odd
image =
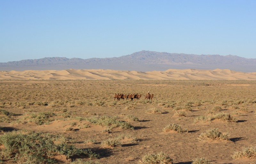
[[[198,137],[200,141],[204,140],[228,140],[228,133],[219,132],[218,128],[207,130]]]

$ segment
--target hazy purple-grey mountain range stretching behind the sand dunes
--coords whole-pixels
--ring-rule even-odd
[[[164,71],[167,69],[231,69],[256,72],[256,59],[234,55],[195,55],[140,51],[113,58],[47,57],[0,63],[0,71],[63,70],[63,69],[112,69],[127,71]]]

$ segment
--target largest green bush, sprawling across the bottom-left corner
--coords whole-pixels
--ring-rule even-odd
[[[82,155],[97,158],[98,154],[90,149],[78,149],[68,145],[66,139],[59,135],[36,133],[33,131],[12,131],[0,136],[1,158],[4,162],[17,163],[56,163],[56,155],[70,158]]]

